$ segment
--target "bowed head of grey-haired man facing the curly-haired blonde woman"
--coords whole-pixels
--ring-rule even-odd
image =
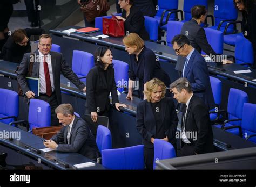
[[[179,103],[186,103],[193,91],[190,82],[186,78],[179,78],[170,85],[173,98]]]

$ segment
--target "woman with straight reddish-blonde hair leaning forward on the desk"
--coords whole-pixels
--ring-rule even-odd
[[[171,81],[169,75],[161,68],[154,52],[144,45],[144,41],[136,33],[131,33],[123,39],[125,50],[130,54],[129,90],[127,99],[132,99],[132,86],[136,78],[139,80],[139,96],[143,96],[145,85],[152,78],[158,78],[169,87]]]

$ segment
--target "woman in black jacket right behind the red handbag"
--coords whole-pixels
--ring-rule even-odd
[[[120,0],[118,4],[123,12],[122,16],[116,16],[116,18],[124,21],[125,35],[137,33],[143,40],[149,40],[144,23],[145,18],[142,11],[133,5],[133,0]]]

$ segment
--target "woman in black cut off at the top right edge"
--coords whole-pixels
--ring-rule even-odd
[[[242,12],[244,37],[252,42],[254,64],[256,69],[256,4],[254,0],[233,0],[235,7]]]

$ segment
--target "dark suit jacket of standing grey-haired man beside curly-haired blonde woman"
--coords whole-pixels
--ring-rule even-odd
[[[183,129],[183,125],[181,123],[181,130]],[[194,152],[197,154],[213,152],[213,133],[209,112],[207,106],[196,95],[193,95],[190,100],[185,120],[185,132],[194,131],[197,132],[196,140],[187,137],[194,146]],[[181,146],[183,146],[183,141],[181,142]]]

